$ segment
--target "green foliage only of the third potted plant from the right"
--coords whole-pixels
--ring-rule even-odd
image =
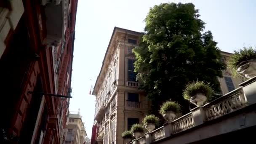
[[[160,107],[160,114],[163,115],[166,112],[172,111],[176,114],[181,112],[181,106],[175,101],[165,101],[163,105]]]

